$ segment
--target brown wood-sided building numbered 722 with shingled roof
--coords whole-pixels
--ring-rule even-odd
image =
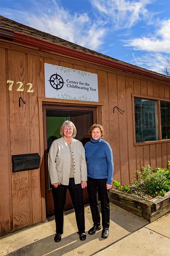
[[[104,127],[104,140],[113,150],[113,179],[122,185],[134,180],[135,170],[142,166],[167,168],[170,160],[169,77],[2,16],[0,27],[1,235],[45,221],[46,216],[53,214],[47,156],[65,119],[74,122],[78,130],[76,138],[82,143],[89,139],[91,124]],[[46,63],[58,68],[56,77],[52,72],[49,79],[45,78]],[[59,67],[74,73],[84,72],[81,75],[97,75],[94,95],[98,100],[90,100],[90,96],[85,96],[87,89],[81,88],[77,89],[86,90],[82,93],[83,100],[70,99],[69,95],[48,97],[48,81],[53,81],[56,95],[59,87],[78,83],[58,75]],[[80,74],[79,79],[84,81]],[[93,83],[91,81],[89,83]],[[82,83],[88,88],[89,85]],[[91,88],[95,88],[93,84]],[[34,154],[40,157],[40,164],[32,169]],[[13,156],[27,160],[21,155],[27,155],[31,164],[28,163],[28,170],[15,171]],[[88,202],[86,190],[84,200]],[[70,207],[68,195],[66,209]]]

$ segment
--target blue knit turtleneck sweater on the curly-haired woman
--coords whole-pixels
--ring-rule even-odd
[[[113,179],[113,154],[108,142],[101,139],[85,144],[87,176],[92,179],[107,179],[107,184],[112,185]]]

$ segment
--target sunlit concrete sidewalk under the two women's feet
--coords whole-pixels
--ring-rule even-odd
[[[94,235],[89,205],[85,205],[87,239],[80,241],[74,210],[65,212],[64,234],[54,242],[54,216],[43,223],[1,237],[0,256],[170,256],[170,213],[153,223],[111,203],[109,237],[101,238],[102,230]]]

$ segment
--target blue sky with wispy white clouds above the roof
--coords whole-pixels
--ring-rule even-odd
[[[159,73],[170,57],[170,0],[0,0],[0,14]]]

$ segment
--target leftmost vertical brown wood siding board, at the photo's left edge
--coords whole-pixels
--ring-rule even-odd
[[[5,49],[1,49],[1,73],[0,73],[0,234],[12,231],[12,188],[11,188],[11,159],[10,159],[10,132],[8,88],[6,86],[7,63]]]

